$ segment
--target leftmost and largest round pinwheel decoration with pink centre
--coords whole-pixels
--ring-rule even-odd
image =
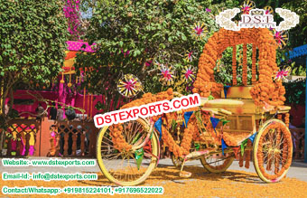
[[[141,81],[135,77],[135,75],[126,74],[122,79],[118,80],[117,90],[122,96],[131,98],[135,97],[141,90],[143,90],[143,86]]]

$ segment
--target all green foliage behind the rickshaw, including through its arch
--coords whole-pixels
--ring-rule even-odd
[[[212,14],[219,14],[223,9],[240,7],[243,0],[164,0],[164,1],[92,1],[84,0],[84,10],[93,8],[94,15],[90,20],[90,27],[86,39],[98,43],[96,54],[80,54],[77,69],[92,67],[84,85],[91,92],[107,96],[107,100],[118,99],[116,82],[126,73],[135,74],[144,84],[144,91],[158,92],[166,90],[159,82],[158,70],[155,65],[144,66],[146,61],[159,61],[171,64],[176,71],[175,90],[186,93],[187,84],[181,80],[181,70],[188,64],[183,54],[190,49],[198,51],[197,58],[191,62],[197,66],[202,47],[212,33],[219,27],[214,23]],[[293,47],[304,44],[306,37],[306,12],[304,0],[265,1],[256,0],[256,7],[264,8],[266,5],[284,7],[300,15],[300,24],[290,32],[290,42],[283,49],[276,51],[277,65],[283,68],[286,60],[285,52]],[[306,5],[306,6],[304,6]],[[206,8],[211,13],[205,11]],[[281,18],[274,15],[275,21]],[[239,20],[237,16],[235,20]],[[191,25],[204,22],[209,33],[203,41],[196,41],[191,37]],[[128,55],[124,55],[129,51]],[[251,46],[247,46],[247,80],[251,81]],[[161,53],[163,56],[161,56]],[[160,56],[160,57],[159,57]],[[163,58],[161,58],[163,57]],[[166,57],[166,58],[165,58]],[[237,84],[242,84],[242,45],[237,46]],[[215,78],[224,84],[232,82],[232,50],[228,48],[223,52],[220,68],[215,69]],[[287,65],[289,66],[290,63]],[[256,65],[257,66],[257,65]],[[292,64],[293,73],[299,75],[303,68]],[[141,95],[141,94],[140,94]],[[104,104],[98,104],[98,108]]]

